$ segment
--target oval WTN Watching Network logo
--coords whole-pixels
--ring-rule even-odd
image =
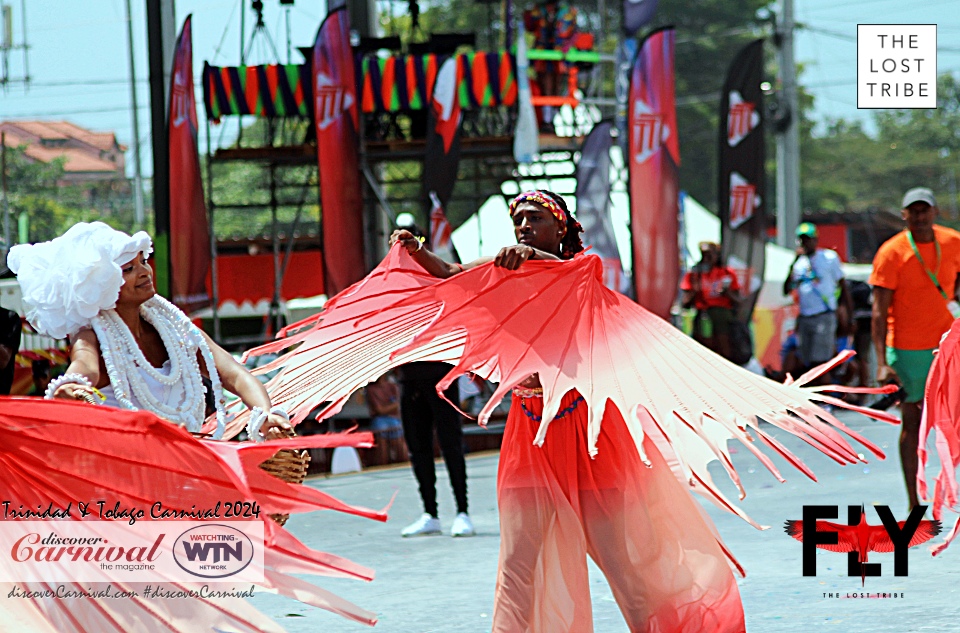
[[[182,570],[200,578],[226,578],[253,560],[253,541],[235,527],[220,524],[190,528],[177,537],[173,558]]]

